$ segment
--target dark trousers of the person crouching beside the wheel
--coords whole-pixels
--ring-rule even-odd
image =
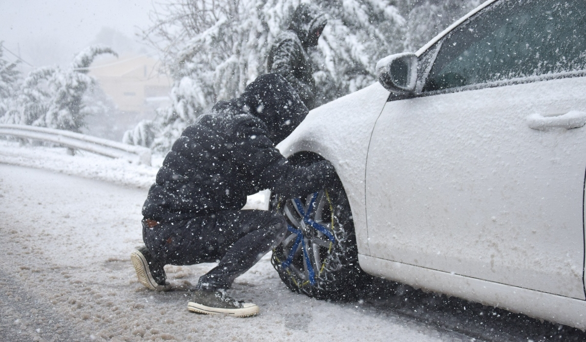
[[[143,222],[142,239],[163,265],[218,262],[199,278],[201,290],[229,289],[287,232],[285,219],[270,211],[221,211],[186,221],[161,223],[153,228]]]

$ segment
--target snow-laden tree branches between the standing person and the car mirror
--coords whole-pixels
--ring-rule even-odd
[[[318,49],[316,88],[325,103],[369,86],[376,80],[374,66],[382,57],[400,52],[406,20],[387,0],[322,1],[329,14]]]

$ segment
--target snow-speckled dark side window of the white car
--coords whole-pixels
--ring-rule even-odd
[[[500,1],[444,39],[423,92],[586,69],[586,1]]]

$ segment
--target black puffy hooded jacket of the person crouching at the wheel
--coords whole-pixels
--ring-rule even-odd
[[[172,222],[241,209],[247,195],[267,188],[292,198],[324,187],[335,175],[329,162],[293,166],[274,147],[307,112],[281,76],[258,77],[240,97],[220,101],[183,131],[149,189],[142,215]]]

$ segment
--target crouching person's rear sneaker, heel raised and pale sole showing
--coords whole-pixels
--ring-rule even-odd
[[[155,291],[166,291],[171,285],[166,282],[165,269],[160,262],[156,261],[146,247],[130,253],[130,260],[137,271],[138,281],[148,289]]]

